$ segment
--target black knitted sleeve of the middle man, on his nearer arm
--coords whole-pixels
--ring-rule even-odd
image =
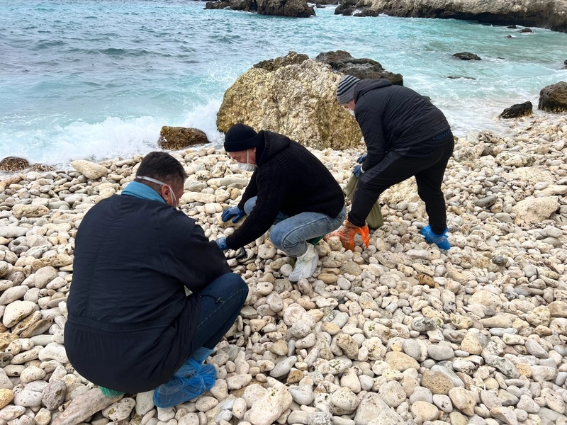
[[[282,176],[275,164],[264,164],[257,170],[258,199],[252,213],[246,217],[242,226],[226,238],[230,249],[238,249],[264,234],[276,221],[286,195],[283,185],[279,185],[275,176]],[[239,204],[240,205],[240,204]]]

